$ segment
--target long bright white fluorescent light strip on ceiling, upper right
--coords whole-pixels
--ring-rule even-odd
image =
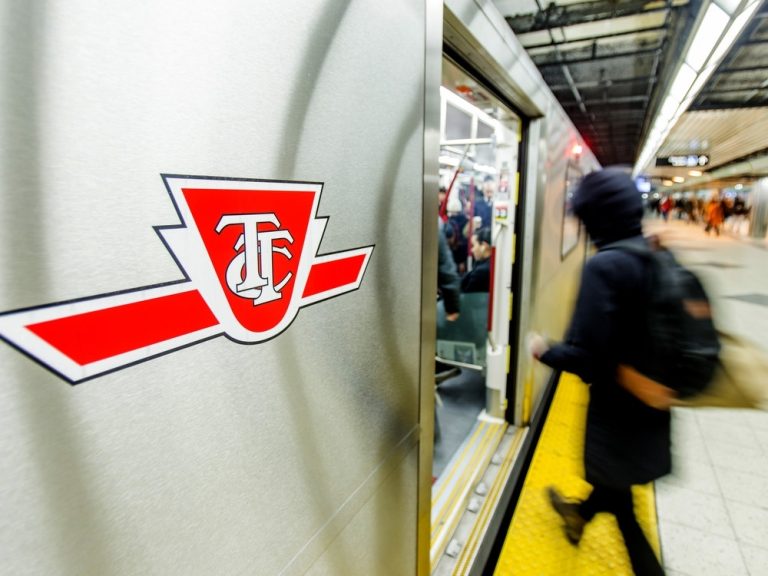
[[[636,176],[651,164],[656,151],[715,71],[759,4],[759,0],[745,0],[741,2],[741,11],[736,13],[733,3],[724,5],[722,0],[709,3],[641,147],[632,170],[633,175]]]

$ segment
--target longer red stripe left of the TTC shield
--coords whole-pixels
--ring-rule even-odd
[[[59,352],[85,365],[215,326],[197,290],[30,324]]]

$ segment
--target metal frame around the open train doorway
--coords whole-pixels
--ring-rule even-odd
[[[524,404],[520,391],[515,385],[521,381],[527,368],[522,361],[524,353],[522,334],[528,326],[528,301],[532,286],[536,280],[533,269],[533,251],[535,243],[535,218],[537,198],[542,185],[543,175],[537,168],[539,163],[539,145],[541,135],[545,133],[542,120],[551,106],[551,94],[540,90],[541,78],[535,66],[516,56],[524,54],[519,43],[508,41],[505,35],[511,32],[503,27],[503,18],[488,7],[478,6],[470,0],[446,0],[445,4],[436,0],[427,0],[426,30],[426,73],[425,73],[425,125],[424,125],[424,193],[423,193],[423,270],[422,270],[422,354],[420,376],[420,415],[422,423],[422,441],[419,452],[419,503],[418,503],[418,568],[420,575],[430,574],[430,529],[431,529],[431,486],[432,456],[434,435],[434,354],[435,354],[435,306],[434,290],[437,277],[437,191],[439,182],[440,150],[440,99],[436,95],[441,85],[441,62],[444,56],[450,57],[465,71],[473,74],[485,87],[492,89],[499,98],[520,119],[515,207],[515,266],[511,278],[512,319],[508,342],[509,371],[507,376],[507,404],[505,418],[510,424],[520,425],[523,421]],[[490,26],[489,26],[490,24]],[[501,30],[506,30],[501,32]],[[496,37],[491,37],[496,35]],[[492,48],[486,49],[478,38],[490,38]],[[498,42],[498,40],[507,40]],[[511,59],[510,56],[513,56]],[[512,61],[516,72],[501,67],[500,61]],[[480,70],[489,70],[494,78],[501,78],[506,84],[496,90],[496,83]],[[500,73],[499,73],[500,72]],[[541,152],[544,154],[544,151]],[[529,178],[528,175],[531,175]],[[538,174],[538,176],[537,176]],[[525,303],[525,305],[524,305]],[[530,399],[529,390],[529,402]],[[511,498],[511,491],[503,490],[498,507],[506,508]],[[498,531],[502,521],[494,513],[489,522],[489,529]],[[492,541],[493,538],[490,538]],[[487,558],[491,553],[492,542],[485,542],[483,554]]]

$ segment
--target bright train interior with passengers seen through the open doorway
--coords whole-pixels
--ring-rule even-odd
[[[476,517],[472,489],[514,429],[507,421],[520,117],[451,59],[440,88],[439,233],[460,284],[458,317],[437,302],[433,571]],[[441,263],[442,266],[442,263]],[[504,280],[506,279],[506,280]],[[450,308],[450,304],[449,304]],[[489,488],[486,486],[486,489]],[[477,511],[477,510],[475,510]],[[467,528],[465,528],[466,530]]]

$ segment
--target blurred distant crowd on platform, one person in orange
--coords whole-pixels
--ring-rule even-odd
[[[726,220],[731,218],[743,220],[749,216],[750,212],[750,206],[746,204],[743,196],[721,197],[717,193],[713,194],[709,200],[694,195],[673,198],[669,194],[664,194],[650,200],[648,208],[665,222],[670,218],[676,218],[690,224],[702,224],[707,234],[714,232],[716,236],[720,235]]]

